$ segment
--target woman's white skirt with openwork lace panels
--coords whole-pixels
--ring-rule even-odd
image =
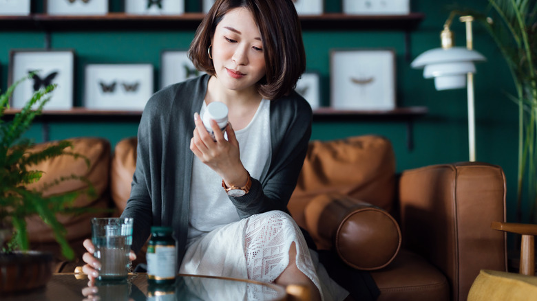
[[[187,248],[179,272],[274,282],[288,266],[292,243],[297,250],[298,269],[315,284],[323,300],[343,300],[348,296],[345,289],[328,277],[319,263],[317,252],[308,249],[295,221],[281,211],[255,214],[200,236]],[[207,300],[217,300],[211,298],[211,289],[204,288],[202,291]],[[231,291],[233,296],[227,296],[225,300],[264,300],[270,297],[264,296],[266,292],[249,289],[248,286],[229,293]],[[218,298],[222,298],[221,293]]]

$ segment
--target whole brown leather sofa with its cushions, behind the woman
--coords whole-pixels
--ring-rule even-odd
[[[136,164],[136,138],[118,142],[114,151],[101,138],[72,141],[74,151],[92,161],[89,169],[70,157],[36,168],[49,179],[85,175],[100,197],[75,205],[120,214]],[[81,188],[65,183],[56,192]],[[383,137],[313,141],[288,208],[319,249],[332,249],[350,267],[370,271],[381,291],[378,300],[462,301],[481,269],[507,269],[505,235],[490,230],[493,221],[505,221],[499,166],[463,162],[396,174],[392,146]],[[35,219],[29,221],[32,246],[56,254],[56,271],[73,271],[81,265],[93,215],[61,217],[76,260],[63,260],[48,229]]]

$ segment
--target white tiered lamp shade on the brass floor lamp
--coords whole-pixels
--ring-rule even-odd
[[[420,54],[410,66],[423,69],[424,78],[434,78],[436,90],[466,87],[466,74],[475,73],[473,62],[483,61],[485,56],[465,47],[435,48]]]

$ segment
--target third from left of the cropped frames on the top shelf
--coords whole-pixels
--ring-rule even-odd
[[[126,14],[167,14],[185,13],[185,0],[125,0]]]

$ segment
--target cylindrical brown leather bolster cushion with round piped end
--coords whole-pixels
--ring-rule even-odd
[[[319,249],[334,249],[350,267],[386,267],[399,252],[397,221],[381,208],[343,194],[321,194],[304,209],[306,227]]]

